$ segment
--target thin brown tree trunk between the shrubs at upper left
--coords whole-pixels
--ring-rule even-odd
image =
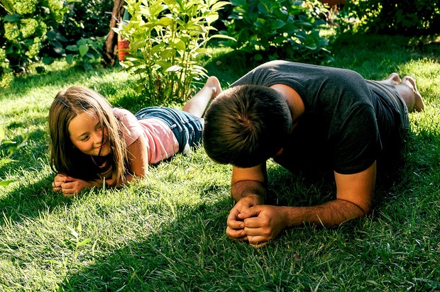
[[[110,31],[106,36],[106,41],[103,47],[103,59],[107,66],[113,67],[116,64],[118,58],[118,35],[114,32],[113,28],[116,28],[119,22],[122,20],[123,4],[124,0],[114,0],[113,11],[111,11]]]

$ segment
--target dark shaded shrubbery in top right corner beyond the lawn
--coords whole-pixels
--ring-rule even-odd
[[[343,28],[363,33],[431,35],[439,33],[440,2],[437,0],[348,1],[337,20]],[[356,19],[355,23],[348,19]]]

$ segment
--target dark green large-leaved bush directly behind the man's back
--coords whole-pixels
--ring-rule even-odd
[[[222,42],[251,54],[254,60],[329,60],[328,40],[319,35],[327,10],[319,1],[232,0],[233,11],[222,33],[236,43]]]

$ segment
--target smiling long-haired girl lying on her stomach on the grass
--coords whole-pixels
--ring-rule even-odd
[[[204,110],[220,91],[219,79],[209,77],[182,111],[153,106],[135,115],[91,89],[60,91],[48,120],[53,190],[74,196],[104,181],[118,187],[145,176],[148,164],[190,152],[202,141]]]

